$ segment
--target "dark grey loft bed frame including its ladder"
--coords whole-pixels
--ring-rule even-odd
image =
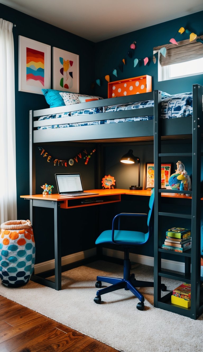
[[[50,143],[50,142],[136,142],[136,141],[154,141],[154,164],[155,164],[155,254],[154,254],[154,305],[162,309],[170,310],[178,314],[190,316],[192,319],[203,313],[203,305],[200,303],[200,217],[201,217],[201,199],[200,186],[201,186],[201,139],[203,133],[203,87],[194,84],[192,86],[193,94],[193,116],[186,118],[174,119],[161,119],[161,91],[155,90],[154,92],[136,94],[130,96],[123,96],[119,98],[110,98],[104,100],[97,100],[92,102],[80,103],[70,106],[62,106],[57,108],[49,108],[37,111],[30,111],[30,194],[35,194],[35,155],[33,144]],[[38,121],[38,118],[45,115],[71,112],[93,107],[103,107],[111,105],[119,105],[130,102],[140,102],[146,100],[154,100],[154,108],[143,108],[135,110],[124,110],[116,112],[108,112],[101,114],[82,115],[74,117],[64,117],[60,119],[48,119]],[[135,121],[135,122],[122,122],[114,124],[103,125],[89,125],[81,127],[68,127],[68,128],[54,128],[37,130],[39,126],[47,126],[54,124],[63,124],[71,122],[86,122],[104,119],[116,119],[124,117],[139,117],[154,115],[154,120]],[[59,121],[60,120],[60,121]],[[161,202],[161,180],[160,169],[161,157],[169,156],[161,153],[161,140],[162,139],[192,139],[192,152],[191,153],[173,153],[170,156],[190,156],[192,158],[192,192],[182,191],[181,193],[192,193],[192,210],[191,210],[191,229],[193,235],[192,249],[185,258],[190,258],[185,261],[185,267],[188,277],[176,277],[186,282],[191,282],[192,295],[195,297],[195,302],[191,304],[191,309],[176,308],[170,304],[170,294],[167,300],[161,300],[160,295],[160,278],[161,276],[169,277],[165,272],[161,272],[161,254],[163,251],[160,248],[160,228],[159,216],[180,216],[181,214],[162,214],[160,213]],[[99,149],[99,148],[98,148]],[[187,155],[186,155],[187,154]],[[99,159],[100,160],[100,159]],[[99,161],[100,162],[100,161]],[[99,180],[100,180],[99,175]],[[170,191],[167,190],[170,193]],[[171,193],[174,191],[171,191]],[[178,193],[178,192],[177,192]],[[180,191],[179,191],[180,193]],[[188,217],[188,216],[187,216]],[[186,218],[186,216],[185,216]],[[184,252],[187,253],[187,252]],[[181,253],[183,254],[183,253]],[[190,263],[192,263],[191,277],[190,277]],[[167,276],[168,275],[168,276]],[[201,278],[203,279],[203,278]]]

